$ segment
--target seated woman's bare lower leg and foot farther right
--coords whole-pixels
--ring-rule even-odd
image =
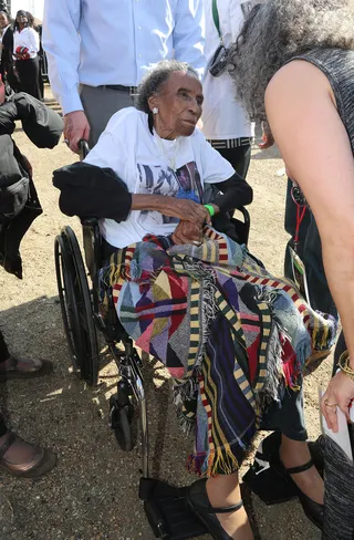
[[[279,454],[281,461],[287,468],[300,467],[311,459],[308,443],[292,440],[285,437],[285,435],[282,435]],[[314,466],[303,472],[291,475],[291,477],[303,494],[315,502],[323,505],[324,484]]]

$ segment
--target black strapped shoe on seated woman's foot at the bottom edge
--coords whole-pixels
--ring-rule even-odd
[[[199,521],[208,529],[210,534],[215,540],[232,540],[232,538],[222,528],[220,521],[216,517],[216,513],[230,513],[242,508],[243,502],[240,501],[237,505],[226,507],[226,508],[214,508],[208,498],[207,494],[207,479],[195,481],[187,491],[186,499],[192,510],[197,516]]]

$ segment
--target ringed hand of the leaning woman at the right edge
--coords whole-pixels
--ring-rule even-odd
[[[321,399],[323,416],[332,432],[336,433],[339,430],[336,407],[340,407],[348,420],[352,399],[354,399],[354,381],[345,375],[345,373],[339,372],[330,382]]]

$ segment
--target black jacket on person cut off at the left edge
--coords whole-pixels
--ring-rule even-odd
[[[20,242],[42,212],[28,164],[12,139],[15,121],[39,148],[53,148],[61,137],[63,121],[34,97],[10,95],[0,105],[0,264],[22,279]]]

